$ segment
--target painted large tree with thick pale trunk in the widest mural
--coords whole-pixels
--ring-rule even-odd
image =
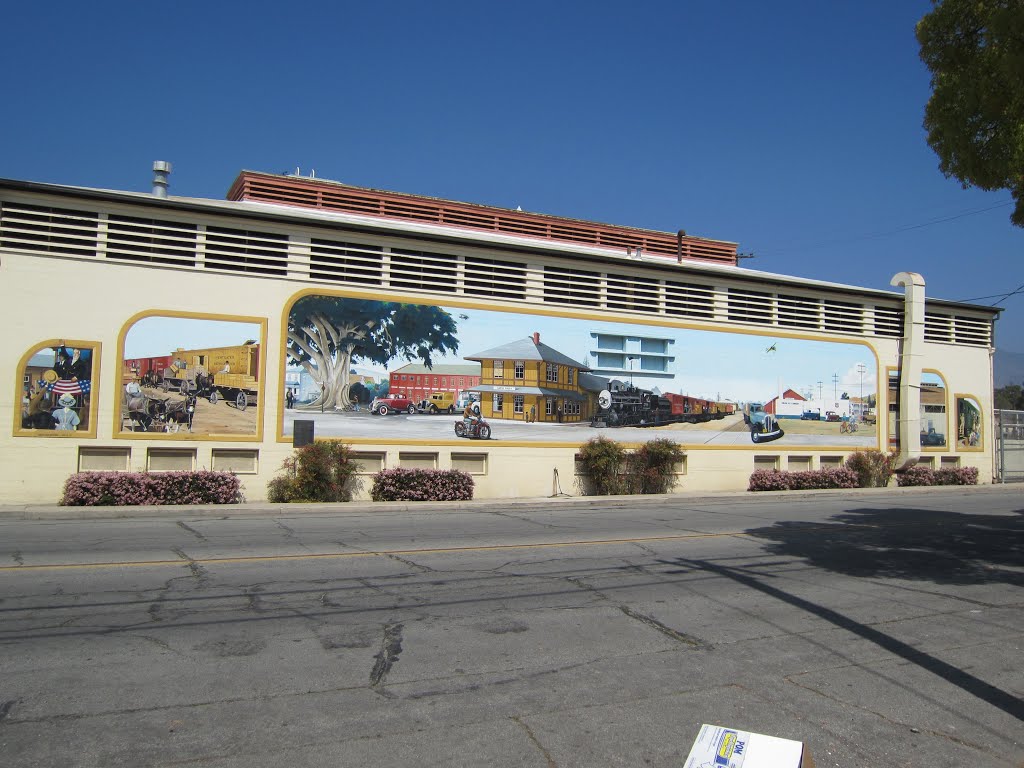
[[[355,360],[387,365],[399,357],[431,367],[433,356],[459,348],[456,322],[435,306],[394,301],[305,296],[288,315],[288,360],[302,366],[322,394],[305,410],[351,404]]]

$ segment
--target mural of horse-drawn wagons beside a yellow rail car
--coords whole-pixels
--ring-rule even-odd
[[[122,433],[256,435],[262,325],[150,316],[125,334]]]

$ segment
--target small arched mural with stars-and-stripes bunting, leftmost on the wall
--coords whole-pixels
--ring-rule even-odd
[[[73,342],[38,347],[19,372],[20,428],[33,434],[92,430],[95,348]]]

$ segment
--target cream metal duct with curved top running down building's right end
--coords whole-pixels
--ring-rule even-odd
[[[921,360],[925,345],[925,279],[899,272],[890,285],[903,286],[903,339],[899,356],[899,457],[896,469],[912,467],[921,459]]]

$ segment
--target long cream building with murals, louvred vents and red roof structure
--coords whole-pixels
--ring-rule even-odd
[[[682,230],[246,171],[225,201],[0,180],[0,281],[7,503],[191,468],[258,501],[297,420],[367,475],[459,468],[479,498],[577,493],[595,435],[681,443],[680,490],[868,447],[992,476],[997,310],[909,272],[813,282]],[[468,399],[489,440],[456,436]]]

